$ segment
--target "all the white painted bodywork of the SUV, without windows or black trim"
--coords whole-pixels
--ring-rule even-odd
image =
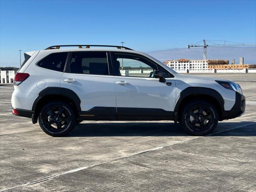
[[[42,88],[63,87],[73,90],[81,100],[81,109],[90,110],[95,106],[109,107],[142,107],[162,108],[173,111],[180,97],[180,92],[187,87],[196,86],[212,88],[224,98],[225,110],[230,110],[235,103],[235,92],[227,90],[215,82],[215,78],[181,75],[151,56],[134,51],[118,50],[118,52],[136,53],[146,56],[158,63],[164,69],[173,74],[174,78],[166,78],[172,82],[172,86],[166,86],[154,78],[139,78],[125,76],[102,76],[91,74],[69,74],[41,68],[37,62],[47,55],[55,52],[70,51],[116,51],[113,49],[53,49],[29,52],[32,55],[19,72],[29,73],[26,83],[14,86],[12,94],[12,107],[31,110],[32,104]],[[66,82],[74,80],[76,82]],[[38,84],[44,81],[43,86]],[[121,85],[117,82],[125,81],[128,84]]]

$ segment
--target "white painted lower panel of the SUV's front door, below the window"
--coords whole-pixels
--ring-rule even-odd
[[[174,110],[176,91],[173,78],[166,78],[171,86],[159,82],[159,79],[144,77],[114,76],[114,82],[116,107]]]

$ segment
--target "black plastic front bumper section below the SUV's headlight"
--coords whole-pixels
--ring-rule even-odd
[[[222,111],[220,120],[233,119],[244,114],[245,111],[245,96],[236,92],[236,101],[231,110]]]

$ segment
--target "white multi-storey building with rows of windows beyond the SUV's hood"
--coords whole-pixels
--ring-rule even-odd
[[[167,60],[164,64],[174,70],[208,69],[208,60]]]

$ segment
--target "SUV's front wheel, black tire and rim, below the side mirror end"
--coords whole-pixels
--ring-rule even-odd
[[[204,100],[194,100],[188,103],[182,109],[181,115],[184,130],[196,136],[210,134],[218,124],[216,108]]]

